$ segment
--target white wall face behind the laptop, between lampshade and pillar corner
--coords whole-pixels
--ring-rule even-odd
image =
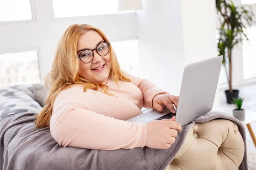
[[[140,77],[178,95],[184,67],[180,1],[143,0],[137,25]]]

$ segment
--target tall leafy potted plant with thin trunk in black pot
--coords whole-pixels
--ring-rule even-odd
[[[237,98],[239,90],[232,87],[232,50],[242,43],[243,40],[248,40],[245,29],[247,26],[252,26],[253,10],[246,9],[244,6],[235,6],[230,0],[216,0],[216,9],[219,16],[220,27],[218,38],[218,52],[223,55],[222,64],[224,65],[229,89],[225,91],[227,103],[231,103],[233,98]],[[228,67],[228,69],[227,69]]]

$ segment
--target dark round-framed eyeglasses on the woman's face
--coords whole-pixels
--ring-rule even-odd
[[[78,58],[81,59],[82,62],[87,64],[87,63],[93,61],[93,57],[94,57],[93,51],[94,50],[96,50],[97,53],[103,57],[103,56],[107,55],[109,52],[109,44],[110,44],[109,42],[102,42],[93,50],[84,50],[79,54]]]

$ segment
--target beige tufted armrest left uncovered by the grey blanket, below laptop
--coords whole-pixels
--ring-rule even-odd
[[[215,119],[194,125],[166,170],[238,170],[243,156],[236,123]]]

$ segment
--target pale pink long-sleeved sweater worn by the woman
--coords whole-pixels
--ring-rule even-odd
[[[73,86],[55,99],[50,119],[52,137],[60,146],[98,150],[144,147],[147,125],[125,120],[153,108],[154,96],[165,91],[151,82],[128,75],[132,82],[108,79],[109,96],[100,91]],[[101,90],[103,91],[103,90]]]

